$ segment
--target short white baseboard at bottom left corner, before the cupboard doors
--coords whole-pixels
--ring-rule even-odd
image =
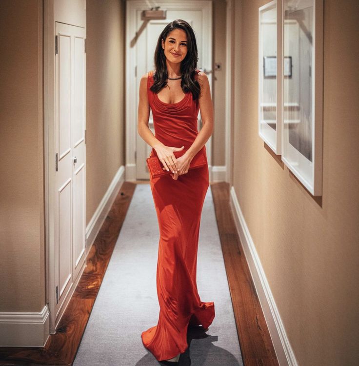
[[[0,312],[1,347],[43,347],[49,337],[49,307],[40,313]]]

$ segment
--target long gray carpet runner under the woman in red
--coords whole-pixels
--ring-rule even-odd
[[[156,292],[159,243],[149,184],[138,184],[86,325],[75,366],[161,365],[142,345],[141,332],[158,321]],[[219,241],[213,197],[203,204],[197,264],[202,301],[214,301],[216,317],[206,332],[188,329],[179,364],[242,366],[236,323]]]

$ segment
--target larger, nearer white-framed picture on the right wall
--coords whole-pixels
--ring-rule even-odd
[[[323,0],[282,0],[281,160],[314,196],[322,194]],[[288,72],[289,70],[287,70]],[[287,73],[288,75],[288,73]]]

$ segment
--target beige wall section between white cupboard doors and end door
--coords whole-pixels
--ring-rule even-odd
[[[87,0],[87,224],[124,165],[124,7]]]

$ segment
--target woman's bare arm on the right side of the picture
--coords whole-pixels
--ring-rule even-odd
[[[202,128],[195,141],[185,152],[191,160],[207,142],[213,132],[213,104],[208,77],[202,72],[200,72],[198,76],[200,85],[199,110],[202,119]]]

